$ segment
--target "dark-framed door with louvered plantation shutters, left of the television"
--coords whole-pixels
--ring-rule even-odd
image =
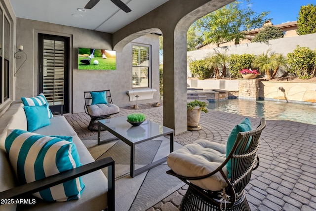
[[[53,114],[69,113],[69,38],[39,34],[39,93]]]

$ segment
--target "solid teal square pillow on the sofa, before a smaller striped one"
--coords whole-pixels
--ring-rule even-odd
[[[50,121],[47,115],[47,106],[24,106],[26,120],[28,123],[28,131],[32,132],[50,125]]]

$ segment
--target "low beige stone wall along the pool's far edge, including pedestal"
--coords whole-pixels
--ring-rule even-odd
[[[228,96],[244,99],[265,99],[316,105],[316,83],[275,82],[261,79],[239,80],[187,80],[188,87],[198,89],[219,89]]]

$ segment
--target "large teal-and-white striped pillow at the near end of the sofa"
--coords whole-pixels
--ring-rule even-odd
[[[81,166],[76,145],[70,138],[65,138],[70,141],[62,138],[8,130],[5,149],[21,184]],[[84,184],[78,177],[33,195],[45,201],[63,202],[79,199],[83,189]]]

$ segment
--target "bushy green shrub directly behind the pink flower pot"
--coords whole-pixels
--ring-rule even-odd
[[[229,71],[234,78],[241,78],[239,73],[242,69],[250,69],[251,63],[256,58],[253,54],[244,53],[242,55],[232,54],[230,57]]]

